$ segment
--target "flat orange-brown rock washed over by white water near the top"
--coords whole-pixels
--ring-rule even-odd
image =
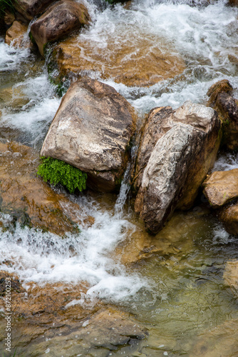
[[[53,50],[52,61],[56,62],[61,78],[72,72],[98,71],[103,79],[113,78],[126,86],[152,86],[184,71],[184,61],[169,44],[162,45],[161,51],[154,45],[154,38],[138,36],[135,29],[128,31],[132,31],[130,43],[122,41],[118,46],[112,35],[107,49],[100,48],[92,40],[78,39],[78,36],[58,44]],[[105,51],[110,56],[105,56]]]

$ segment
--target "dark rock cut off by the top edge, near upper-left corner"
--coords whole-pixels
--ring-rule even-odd
[[[26,20],[31,21],[34,16],[43,12],[53,0],[17,0],[14,2],[16,11]]]

